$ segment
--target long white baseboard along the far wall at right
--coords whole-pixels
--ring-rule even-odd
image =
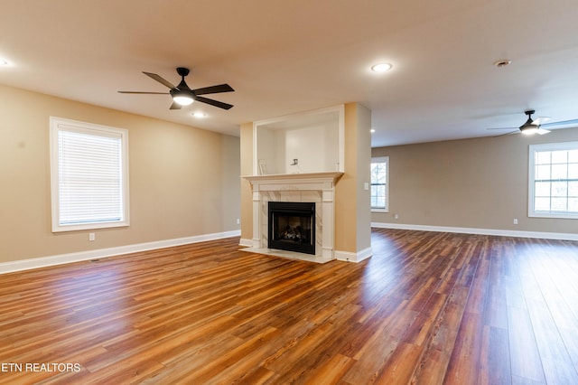
[[[371,227],[375,227],[378,229],[421,230],[421,231],[438,231],[438,232],[457,232],[461,234],[496,235],[499,237],[578,240],[578,234],[571,234],[565,232],[477,229],[467,227],[427,226],[427,225],[382,223],[382,222],[371,222]]]

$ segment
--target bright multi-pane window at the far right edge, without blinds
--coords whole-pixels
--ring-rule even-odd
[[[528,216],[578,219],[578,142],[529,149]]]

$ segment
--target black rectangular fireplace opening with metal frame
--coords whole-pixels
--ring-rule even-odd
[[[315,254],[315,202],[269,202],[269,249]]]

